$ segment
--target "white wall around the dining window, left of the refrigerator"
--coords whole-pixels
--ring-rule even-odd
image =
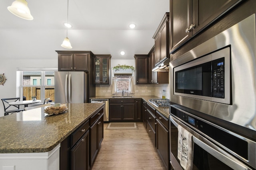
[[[1,59],[0,74],[6,76],[6,82],[0,85],[0,99],[19,97],[17,94],[17,68],[58,68],[57,54],[56,59]],[[0,104],[0,116],[4,116],[4,106]]]

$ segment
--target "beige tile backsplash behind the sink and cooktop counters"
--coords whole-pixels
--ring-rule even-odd
[[[163,90],[166,91],[166,98],[170,99],[169,84],[145,84],[134,85],[134,94],[130,96],[158,96],[162,98]],[[121,96],[122,92],[112,94],[112,85],[96,85],[96,96]],[[124,93],[127,96],[127,92]]]

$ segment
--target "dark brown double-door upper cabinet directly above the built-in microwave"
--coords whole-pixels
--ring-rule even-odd
[[[170,0],[170,53],[242,0]]]

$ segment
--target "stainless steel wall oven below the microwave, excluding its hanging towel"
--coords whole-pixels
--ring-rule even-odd
[[[170,163],[173,170],[183,170],[178,160],[178,125],[192,134],[192,170],[256,168],[255,141],[201,118],[200,113],[195,112],[178,105],[170,106]]]

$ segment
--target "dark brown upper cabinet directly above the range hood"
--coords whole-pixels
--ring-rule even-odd
[[[166,12],[160,25],[156,29],[156,33],[153,38],[155,39],[155,61],[157,65],[166,58],[170,58],[169,55],[169,12]]]

